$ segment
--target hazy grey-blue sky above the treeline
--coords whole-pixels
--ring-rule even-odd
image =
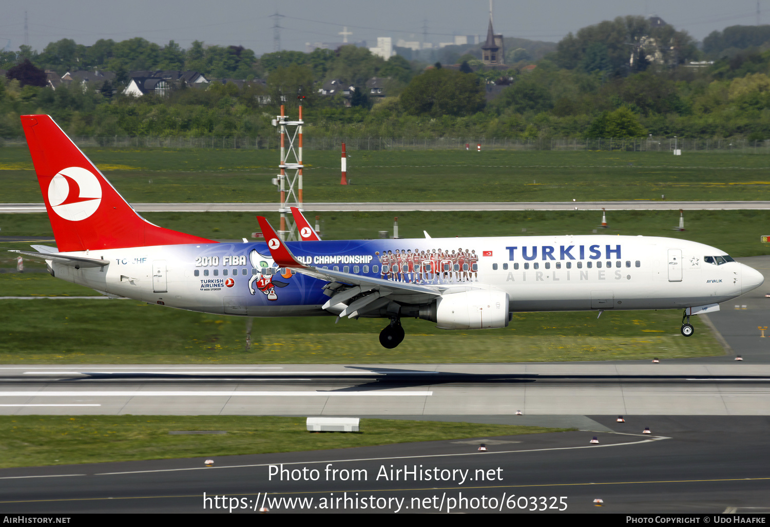
[[[658,15],[695,39],[728,25],[756,23],[756,0],[538,0],[494,2],[495,32],[505,36],[558,42],[568,32],[620,15]],[[770,0],[760,0],[763,24],[770,23]],[[5,2],[0,17],[0,49],[24,43],[24,12],[28,39],[42,51],[49,42],[74,39],[90,45],[141,36],[186,48],[193,40],[208,44],[243,45],[257,55],[273,51],[273,24],[280,18],[282,49],[304,51],[306,42],[340,42],[343,26],[350,40],[376,45],[378,36],[449,42],[452,35],[487,31],[488,0],[29,0]]]

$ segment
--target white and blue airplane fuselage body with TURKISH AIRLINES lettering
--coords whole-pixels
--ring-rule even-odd
[[[382,278],[375,251],[385,247],[474,250],[477,271],[403,273],[441,287],[504,290],[511,311],[668,309],[718,304],[762,284],[762,274],[735,261],[708,263],[725,253],[702,243],[661,237],[556,236],[289,243],[315,267]],[[260,263],[249,253],[259,251]],[[272,267],[264,243],[210,243],[68,253],[109,260],[105,267],[75,269],[50,263],[55,277],[107,294],[182,309],[254,317],[323,315],[325,283],[273,274],[273,284],[253,279]],[[484,256],[487,254],[489,256]],[[347,255],[355,255],[355,257]],[[316,263],[320,262],[320,263]],[[333,262],[333,263],[331,263]],[[376,269],[377,267],[377,269]],[[204,274],[205,273],[205,274]],[[418,276],[419,275],[419,276]],[[269,281],[269,280],[268,280]],[[260,290],[263,287],[264,290]]]

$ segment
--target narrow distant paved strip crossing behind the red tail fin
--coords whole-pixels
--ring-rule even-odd
[[[138,212],[274,212],[278,203],[132,203]],[[770,201],[552,201],[304,203],[313,212],[404,210],[767,210]],[[0,213],[43,213],[42,203],[0,203]],[[286,212],[289,212],[286,210]]]

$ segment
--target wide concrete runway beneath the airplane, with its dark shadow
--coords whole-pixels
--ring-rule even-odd
[[[7,365],[0,376],[5,415],[770,414],[764,364]]]

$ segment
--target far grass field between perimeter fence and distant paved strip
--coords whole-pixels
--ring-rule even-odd
[[[129,202],[277,202],[268,150],[87,149]],[[767,200],[770,156],[489,150],[306,152],[307,202]],[[2,201],[38,203],[29,153],[0,149]]]

